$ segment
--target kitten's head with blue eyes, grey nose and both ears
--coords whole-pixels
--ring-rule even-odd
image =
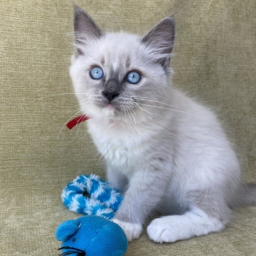
[[[70,68],[81,110],[91,116],[143,118],[170,92],[174,20],[165,18],[143,38],[106,33],[83,9],[75,9],[76,53]],[[145,111],[144,111],[145,110]]]

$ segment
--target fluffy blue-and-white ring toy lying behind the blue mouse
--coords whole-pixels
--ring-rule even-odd
[[[112,219],[122,201],[119,191],[98,175],[77,176],[62,192],[62,201],[69,210]]]

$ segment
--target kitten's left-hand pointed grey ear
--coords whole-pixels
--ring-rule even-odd
[[[85,10],[74,6],[74,37],[78,53],[83,55],[80,45],[86,45],[88,40],[102,36],[103,32]]]

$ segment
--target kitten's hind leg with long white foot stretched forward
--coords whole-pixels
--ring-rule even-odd
[[[190,210],[183,215],[154,219],[147,227],[149,238],[159,243],[175,242],[222,230],[228,222],[231,210],[218,195],[214,197],[214,192],[212,195],[210,198],[210,193],[207,195],[205,192],[203,195],[203,192],[199,192],[200,197],[194,200]]]

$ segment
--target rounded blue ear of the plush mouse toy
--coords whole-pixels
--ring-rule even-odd
[[[62,222],[55,232],[58,241],[64,241],[72,236],[79,229],[80,222],[77,219],[70,219]]]

